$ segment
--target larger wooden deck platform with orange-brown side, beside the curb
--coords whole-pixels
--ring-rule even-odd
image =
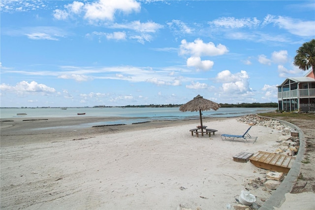
[[[294,163],[295,157],[258,151],[250,161],[258,168],[287,174]]]

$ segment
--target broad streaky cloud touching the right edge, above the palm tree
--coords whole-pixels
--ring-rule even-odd
[[[270,23],[278,25],[279,28],[283,28],[293,35],[314,36],[315,32],[315,21],[302,21],[289,17],[267,15],[263,25]]]

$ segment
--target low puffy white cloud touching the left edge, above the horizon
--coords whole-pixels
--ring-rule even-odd
[[[10,86],[5,83],[0,85],[1,91],[11,91],[16,92],[17,94],[25,94],[25,93],[54,93],[56,92],[55,88],[48,87],[44,84],[38,84],[35,81],[27,82],[21,81],[17,83],[15,86]]]

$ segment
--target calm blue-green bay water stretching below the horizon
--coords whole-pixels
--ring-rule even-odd
[[[259,112],[270,112],[276,108],[219,108],[203,111],[203,117],[235,117]],[[26,113],[27,115],[17,115]],[[86,113],[77,115],[77,113]],[[179,107],[173,108],[1,108],[0,118],[15,117],[126,117],[147,120],[181,120],[198,119],[199,112],[181,112]],[[134,121],[134,120],[133,120]],[[137,120],[136,120],[137,121]]]

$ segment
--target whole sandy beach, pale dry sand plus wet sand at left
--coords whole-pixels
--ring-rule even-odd
[[[268,171],[232,156],[274,152],[282,135],[257,125],[250,130],[254,144],[221,140],[249,128],[237,118],[204,119],[218,130],[210,138],[191,136],[198,120],[82,129],[76,126],[104,118],[14,120],[1,122],[3,210],[233,209],[241,190],[260,206],[272,190],[249,183]]]

